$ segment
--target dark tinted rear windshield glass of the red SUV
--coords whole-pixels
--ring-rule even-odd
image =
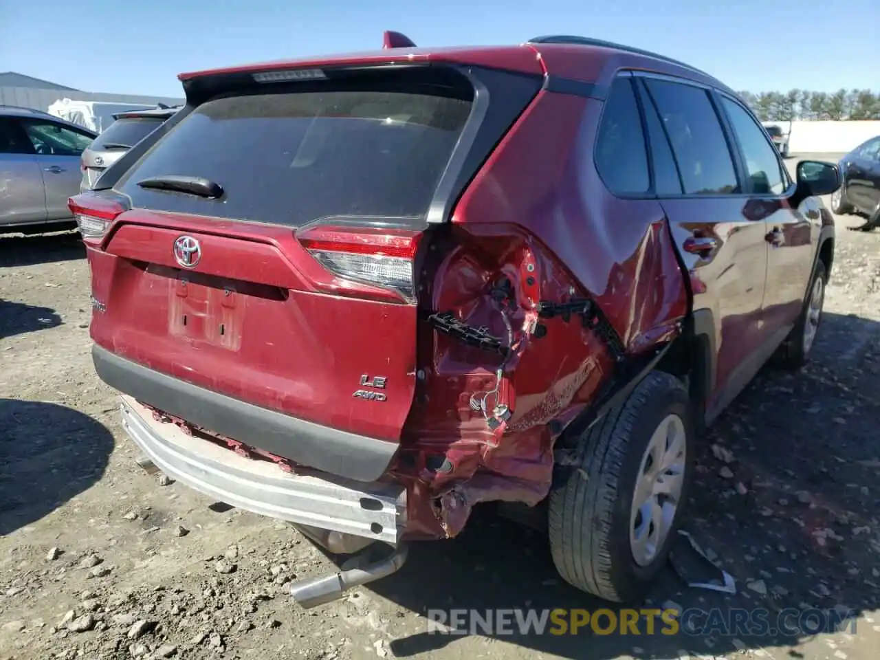
[[[135,207],[298,227],[333,216],[421,222],[471,102],[405,92],[299,92],[210,100],[115,186]],[[182,175],[222,197],[146,190]]]

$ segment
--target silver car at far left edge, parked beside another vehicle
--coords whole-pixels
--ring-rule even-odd
[[[0,106],[0,232],[75,226],[80,157],[97,135],[30,108]]]

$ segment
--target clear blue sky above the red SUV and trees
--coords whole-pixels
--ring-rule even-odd
[[[179,96],[180,71],[379,48],[386,29],[419,46],[568,33],[655,50],[737,90],[880,91],[877,26],[878,0],[0,0],[0,71]]]

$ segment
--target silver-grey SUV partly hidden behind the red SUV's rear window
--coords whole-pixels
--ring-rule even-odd
[[[80,192],[91,190],[107,167],[122,158],[126,151],[149,136],[180,108],[158,107],[128,110],[114,114],[115,121],[83,151],[83,180]]]

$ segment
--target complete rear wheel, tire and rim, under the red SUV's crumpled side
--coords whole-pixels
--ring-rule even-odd
[[[685,385],[656,371],[576,440],[557,473],[549,536],[562,578],[599,598],[642,598],[675,538],[693,465]]]

